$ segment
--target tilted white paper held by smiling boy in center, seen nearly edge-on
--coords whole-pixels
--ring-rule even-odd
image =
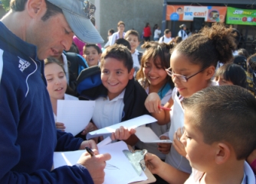
[[[105,134],[110,134],[116,131],[117,128],[120,128],[120,126],[123,126],[124,128],[137,128],[143,124],[150,124],[156,122],[156,118],[153,118],[150,115],[142,115],[137,118],[133,118],[127,121],[123,121],[119,124],[113,124],[110,127],[107,128],[101,128],[97,131],[91,131],[87,134],[87,140],[94,137],[100,137]]]

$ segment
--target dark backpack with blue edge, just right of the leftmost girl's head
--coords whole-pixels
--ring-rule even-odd
[[[68,63],[68,74],[69,74],[69,83],[68,86],[76,92],[77,88],[77,77],[83,69],[88,68],[87,63],[84,58],[77,53],[65,53],[67,56]]]

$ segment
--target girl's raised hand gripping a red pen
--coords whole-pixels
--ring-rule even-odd
[[[150,113],[159,113],[162,109],[159,109],[161,106],[161,99],[156,92],[151,92],[145,101],[145,107]]]

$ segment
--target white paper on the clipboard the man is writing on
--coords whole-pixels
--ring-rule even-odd
[[[107,166],[104,169],[104,184],[130,183],[147,179],[144,172],[141,176],[138,176],[135,169],[133,169],[133,166],[124,155],[123,150],[129,150],[123,141],[99,147],[100,153],[110,153],[111,155],[111,159],[106,162]],[[54,152],[54,168],[65,165],[73,166],[85,151],[86,150]]]

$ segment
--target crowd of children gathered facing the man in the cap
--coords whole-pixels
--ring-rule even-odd
[[[88,67],[77,78],[76,92],[96,104],[81,136],[152,115],[157,122],[146,127],[172,144],[145,144],[136,130],[123,127],[111,137],[149,151],[146,165],[156,183],[255,183],[256,99],[249,90],[254,94],[256,55],[238,50],[234,58],[236,34],[224,24],[185,39],[172,39],[166,30],[159,41],[145,42],[143,53],[137,50],[139,33],[125,33],[124,26],[120,21],[119,31],[110,31],[103,53],[96,44],[84,46]],[[44,61],[54,117],[57,99],[78,100],[65,94],[65,73],[56,59]],[[56,122],[56,128],[64,131],[64,124]]]

